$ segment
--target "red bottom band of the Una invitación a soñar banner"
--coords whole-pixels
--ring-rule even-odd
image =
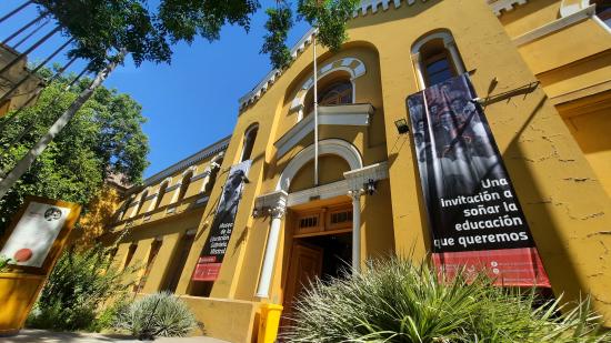
[[[551,286],[535,248],[433,253],[433,262],[449,279],[461,270],[483,271],[497,285]]]

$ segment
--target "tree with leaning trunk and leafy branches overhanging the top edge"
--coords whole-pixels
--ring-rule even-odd
[[[82,89],[70,107],[49,127],[34,144],[23,151],[8,174],[0,180],[0,200],[23,176],[77,111],[102,84],[114,68],[131,54],[139,65],[143,61],[170,62],[171,46],[188,43],[199,36],[209,41],[220,38],[221,28],[238,24],[250,29],[250,17],[260,8],[257,0],[161,0],[157,10],[146,0],[34,0],[42,13],[53,17],[67,36],[74,39],[70,57],[90,61],[97,75],[88,88]],[[298,13],[314,26],[320,42],[339,49],[345,40],[345,22],[350,19],[358,0],[299,0]],[[276,68],[290,62],[284,40],[292,23],[292,13],[280,7],[270,10],[262,52],[270,53]]]

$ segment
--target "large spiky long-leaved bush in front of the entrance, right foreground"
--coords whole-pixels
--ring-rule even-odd
[[[297,302],[289,342],[611,342],[589,302],[569,310],[534,292],[493,286],[484,275],[442,280],[427,266],[390,259]],[[564,310],[560,313],[560,310]]]

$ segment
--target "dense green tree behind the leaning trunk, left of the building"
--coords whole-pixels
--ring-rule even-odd
[[[91,82],[82,79],[66,91],[69,78],[49,84],[34,107],[23,109],[4,128],[0,137],[1,168],[14,164]],[[4,120],[0,119],[0,124]],[[87,204],[109,173],[122,174],[130,183],[139,182],[148,165],[148,140],[141,130],[144,121],[140,104],[129,95],[98,88],[91,100],[0,200],[0,228],[30,194]]]

